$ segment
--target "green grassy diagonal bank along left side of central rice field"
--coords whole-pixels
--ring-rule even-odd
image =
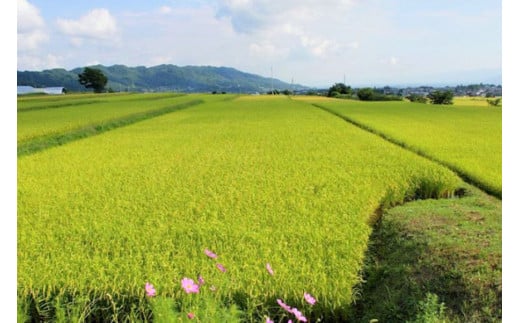
[[[205,101],[201,99],[192,100],[173,106],[163,107],[160,109],[148,110],[144,112],[126,115],[121,118],[111,119],[98,124],[87,125],[81,128],[73,129],[62,133],[36,137],[26,142],[18,144],[17,155],[18,157],[32,155],[45,149],[61,146],[72,141],[95,136],[140,121],[152,119],[164,114],[183,110],[195,105],[202,104],[204,102]]]

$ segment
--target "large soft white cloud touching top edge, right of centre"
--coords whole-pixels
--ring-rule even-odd
[[[217,17],[251,37],[251,53],[268,57],[326,58],[356,47],[338,38],[353,0],[224,0]],[[326,21],[326,23],[324,23]],[[355,46],[358,46],[356,43]]]

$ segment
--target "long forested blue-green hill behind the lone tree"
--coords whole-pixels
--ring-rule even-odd
[[[107,89],[138,92],[231,92],[255,93],[276,90],[304,90],[306,86],[241,72],[230,67],[158,65],[127,67],[124,65],[89,66],[100,69],[108,78]],[[78,81],[83,67],[67,71],[50,69],[40,72],[18,71],[17,85],[36,88],[65,87],[69,91],[90,91]]]

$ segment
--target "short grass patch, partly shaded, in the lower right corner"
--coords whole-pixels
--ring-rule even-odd
[[[502,203],[467,190],[385,212],[352,322],[501,322]]]

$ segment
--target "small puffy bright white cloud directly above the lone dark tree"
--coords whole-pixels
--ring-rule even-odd
[[[116,19],[107,9],[93,9],[77,20],[57,19],[58,28],[66,35],[95,40],[111,40],[117,36]]]

